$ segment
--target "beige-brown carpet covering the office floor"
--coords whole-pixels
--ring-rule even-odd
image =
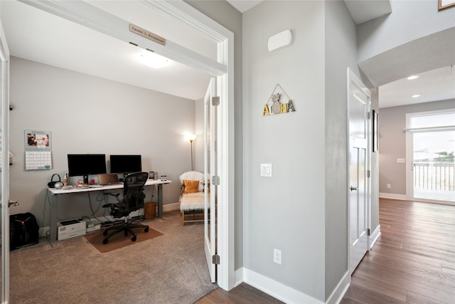
[[[146,221],[163,235],[100,253],[84,237],[10,254],[10,303],[194,303],[215,290],[203,224],[181,226],[178,211]],[[139,238],[139,236],[138,236]]]

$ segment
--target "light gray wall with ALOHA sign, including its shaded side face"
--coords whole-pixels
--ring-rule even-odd
[[[245,268],[325,301],[348,272],[346,96],[347,68],[360,76],[356,26],[342,1],[265,1],[243,27]],[[285,29],[293,44],[269,53],[267,39]],[[277,83],[297,112],[262,117]],[[372,103],[377,109],[374,88]],[[272,163],[273,177],[259,176],[261,163]],[[372,184],[377,193],[377,173]],[[377,198],[372,205],[378,213]]]

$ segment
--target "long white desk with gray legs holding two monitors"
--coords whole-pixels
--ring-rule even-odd
[[[153,186],[158,185],[158,217],[163,215],[163,185],[169,184],[171,181],[161,181],[161,180],[154,180],[154,179],[147,179],[145,183],[146,186]],[[75,194],[75,193],[85,193],[85,192],[92,192],[92,191],[105,191],[105,190],[112,190],[112,189],[122,189],[123,184],[112,184],[107,186],[98,186],[98,187],[83,187],[83,188],[73,188],[73,189],[55,189],[55,188],[48,188],[48,192],[50,193],[50,234],[49,234],[49,241],[50,244],[55,247],[57,246],[57,214],[58,214],[58,196],[65,195],[65,194]]]

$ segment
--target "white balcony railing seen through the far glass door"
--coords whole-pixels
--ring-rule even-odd
[[[453,162],[414,162],[414,189],[455,191]]]

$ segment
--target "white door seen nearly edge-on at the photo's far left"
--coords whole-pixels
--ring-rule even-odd
[[[9,301],[9,50],[0,20],[1,303]]]

